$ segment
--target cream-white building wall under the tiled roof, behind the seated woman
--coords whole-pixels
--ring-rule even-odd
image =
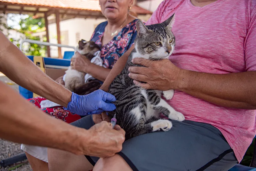
[[[60,32],[68,31],[68,41],[70,46],[77,46],[76,33],[80,33],[80,38],[84,40],[90,40],[92,33],[94,31],[95,25],[105,21],[105,19],[83,19],[74,18],[69,20],[64,20],[60,22]],[[57,28],[56,23],[49,24],[49,38],[50,43],[57,43]],[[62,55],[64,51],[73,51],[70,48],[61,48]],[[51,47],[51,57],[58,56],[58,48]]]

